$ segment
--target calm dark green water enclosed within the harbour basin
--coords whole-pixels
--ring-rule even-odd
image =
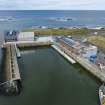
[[[99,83],[52,48],[22,50],[20,96],[0,96],[0,105],[99,105]]]

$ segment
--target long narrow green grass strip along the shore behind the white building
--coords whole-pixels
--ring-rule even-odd
[[[92,32],[95,32],[95,30],[92,29],[27,29],[24,30],[35,32],[37,35],[70,35],[70,36],[86,36]]]

